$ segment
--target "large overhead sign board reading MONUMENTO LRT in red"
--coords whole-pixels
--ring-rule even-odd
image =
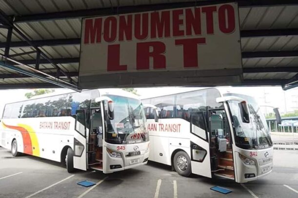
[[[241,75],[235,2],[82,19],[80,88],[240,82]]]

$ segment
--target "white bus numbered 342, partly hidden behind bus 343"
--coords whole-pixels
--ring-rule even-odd
[[[219,176],[239,183],[272,171],[273,143],[252,97],[207,88],[142,102],[149,104],[149,160],[171,165],[183,176]]]

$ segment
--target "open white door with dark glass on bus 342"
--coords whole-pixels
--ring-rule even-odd
[[[191,166],[192,172],[211,178],[209,137],[204,112],[191,114]]]

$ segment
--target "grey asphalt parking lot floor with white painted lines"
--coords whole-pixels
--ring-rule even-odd
[[[70,174],[60,163],[24,155],[12,157],[0,148],[0,198],[298,198],[298,167],[281,161],[298,160],[298,152],[275,151],[273,172],[244,184],[225,179],[192,175],[179,176],[171,167],[149,162],[148,165],[103,174],[77,171]],[[289,157],[290,156],[290,157]],[[92,187],[78,185],[93,181]],[[228,195],[210,190],[222,186]]]

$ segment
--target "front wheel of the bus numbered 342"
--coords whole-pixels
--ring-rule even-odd
[[[174,156],[174,168],[179,175],[188,177],[191,174],[190,158],[184,151],[179,151]]]

